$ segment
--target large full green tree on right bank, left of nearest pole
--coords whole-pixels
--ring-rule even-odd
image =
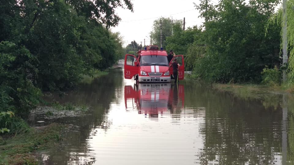
[[[260,82],[265,66],[279,63],[279,25],[265,35],[267,21],[278,1],[202,1],[196,8],[205,18],[205,56],[194,71],[217,82]],[[205,69],[204,69],[205,68]]]

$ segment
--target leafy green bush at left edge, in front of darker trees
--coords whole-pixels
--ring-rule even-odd
[[[13,42],[0,42],[0,112],[12,111],[25,117],[39,104],[36,87],[36,58],[28,49]]]

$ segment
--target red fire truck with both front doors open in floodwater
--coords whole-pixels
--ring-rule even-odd
[[[168,54],[158,46],[150,45],[144,50],[138,51],[138,57],[132,54],[126,54],[124,64],[125,79],[138,80],[139,82],[171,82],[172,67],[169,67],[173,59],[168,63]],[[177,55],[175,57],[181,65],[179,67],[179,80],[184,79],[184,57]]]

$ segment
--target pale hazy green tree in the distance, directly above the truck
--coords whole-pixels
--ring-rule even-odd
[[[160,47],[160,21],[162,24],[162,47],[166,49],[166,38],[172,35],[172,27],[182,28],[182,20],[173,20],[170,18],[161,17],[153,22],[153,30],[150,32],[152,37],[152,44],[158,45]]]

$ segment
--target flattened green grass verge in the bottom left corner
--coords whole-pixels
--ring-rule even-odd
[[[18,134],[14,137],[0,138],[0,165],[38,164],[35,153],[50,148],[62,140],[63,125],[52,123],[48,126]]]

